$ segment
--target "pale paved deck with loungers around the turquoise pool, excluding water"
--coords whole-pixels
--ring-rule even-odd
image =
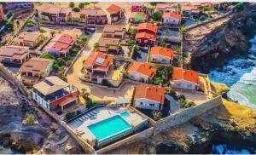
[[[68,123],[68,126],[70,126],[73,129],[73,132],[80,133],[81,137],[86,141],[90,141],[90,144],[92,145],[94,145],[95,141],[97,140],[96,140],[96,136],[90,132],[90,129],[88,129],[89,125],[101,122],[102,120],[105,120],[108,118],[112,118],[113,116],[119,115],[121,112],[127,112],[129,110],[125,107],[114,107],[114,108],[98,107],[94,111],[97,112],[96,117],[87,118],[83,122],[80,121],[79,118],[77,118],[73,122]],[[84,115],[86,114],[87,113],[85,113]],[[80,118],[82,118],[83,116],[81,116]],[[130,125],[132,123],[138,123],[138,122],[144,121],[143,117],[141,117],[137,113],[131,113],[130,116],[127,116],[124,119]]]

